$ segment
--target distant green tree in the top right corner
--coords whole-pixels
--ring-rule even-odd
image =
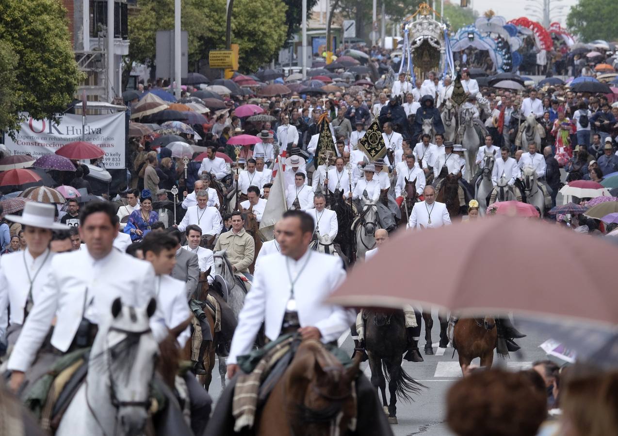
[[[616,1],[579,0],[567,16],[567,27],[584,41],[618,38]]]

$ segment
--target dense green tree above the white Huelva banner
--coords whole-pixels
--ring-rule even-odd
[[[2,67],[14,62],[15,77],[14,106],[0,105],[0,128],[16,130],[20,112],[57,120],[74,98],[84,75],[75,62],[66,15],[57,0],[0,2],[0,62]],[[4,77],[0,80],[6,87]]]

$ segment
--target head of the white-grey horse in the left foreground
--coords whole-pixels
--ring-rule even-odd
[[[151,298],[145,308],[112,303],[109,326],[102,324],[91,351],[108,372],[111,403],[125,435],[142,434],[150,408],[150,382],[155,374],[159,346],[150,330],[150,317],[156,310]]]

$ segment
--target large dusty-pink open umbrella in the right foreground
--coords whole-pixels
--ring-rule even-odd
[[[509,231],[504,232],[505,228]],[[418,249],[446,246],[449,241],[457,241],[459,249],[441,251],[440,262]],[[528,262],[521,280],[504,280],[500,268],[486,267],[496,259],[504,265],[517,264],[531,253],[552,261]],[[574,253],[585,274],[565,274],[564,265],[572,264]],[[614,328],[618,324],[618,293],[607,272],[614,268],[617,256],[618,247],[600,238],[541,220],[492,217],[391,237],[366,267],[353,269],[326,301],[397,309],[404,304],[433,304],[460,316],[510,311],[541,317],[549,314]],[[409,281],[410,265],[423,274],[415,275],[413,287],[402,286]],[[386,270],[390,274],[376,274]]]

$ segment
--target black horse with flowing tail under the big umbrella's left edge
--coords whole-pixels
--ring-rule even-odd
[[[411,401],[410,393],[420,392],[425,386],[414,380],[401,367],[407,350],[404,311],[364,311],[365,350],[371,367],[371,384],[381,391],[384,411],[390,424],[397,424],[397,396]],[[385,377],[386,375],[386,377]],[[386,400],[388,382],[391,402]]]

